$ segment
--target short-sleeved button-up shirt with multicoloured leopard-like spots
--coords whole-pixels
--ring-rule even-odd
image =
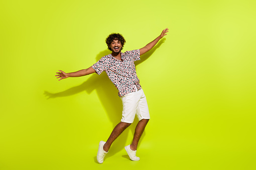
[[[92,67],[97,74],[106,71],[109,79],[118,89],[118,96],[122,97],[128,93],[141,89],[136,74],[134,61],[140,60],[140,50],[126,51],[121,53],[121,60],[114,58],[111,54],[102,57]]]

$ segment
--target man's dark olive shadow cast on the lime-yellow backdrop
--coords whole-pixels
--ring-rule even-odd
[[[154,46],[150,51],[145,53],[143,56],[141,56],[140,61],[135,62],[135,66],[138,66],[140,63],[147,60],[154,51],[160,47],[162,43],[164,43],[165,38],[161,39],[156,46]],[[109,50],[104,50],[100,52],[96,57],[96,62],[99,61],[103,56],[110,54]],[[143,85],[142,85],[143,87]],[[102,106],[104,107],[106,113],[108,114],[109,120],[113,124],[113,128],[120,122],[122,118],[122,101],[120,100],[120,97],[118,96],[118,90],[113,85],[113,83],[109,80],[106,72],[103,72],[101,75],[97,75],[96,73],[91,75],[87,81],[83,82],[82,84],[69,88],[65,91],[58,92],[58,93],[49,93],[47,91],[44,92],[44,95],[50,98],[57,98],[57,97],[66,97],[70,95],[74,95],[77,93],[80,93],[82,91],[86,91],[88,94],[90,94],[93,90],[96,90],[97,95],[99,96],[99,99],[101,101]],[[135,116],[136,117],[136,116]],[[127,136],[129,130],[134,133],[136,124],[138,122],[138,119],[135,118],[134,122],[114,141],[113,145],[111,146],[111,151],[109,154],[106,155],[106,158],[114,155],[115,153],[122,150],[125,146],[125,143],[127,141]],[[110,135],[111,132],[109,132]],[[143,140],[145,136],[145,131],[141,136],[140,142]],[[103,139],[107,140],[107,139]],[[132,139],[130,139],[132,142]],[[140,145],[140,142],[138,144],[138,147]],[[115,144],[118,143],[118,144]]]

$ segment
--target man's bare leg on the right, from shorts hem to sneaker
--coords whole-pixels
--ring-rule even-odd
[[[148,121],[149,121],[149,119],[141,119],[138,122],[138,124],[135,128],[135,133],[133,136],[132,144],[130,145],[131,150],[137,150],[139,139],[140,139]]]

